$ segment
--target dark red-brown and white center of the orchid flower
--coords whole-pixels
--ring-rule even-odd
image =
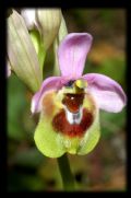
[[[56,132],[61,132],[72,138],[82,137],[92,126],[94,113],[90,109],[90,106],[85,107],[84,97],[87,100],[87,94],[84,92],[64,93],[62,100],[63,108],[52,119],[52,127]]]

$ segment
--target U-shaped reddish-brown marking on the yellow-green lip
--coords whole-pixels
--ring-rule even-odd
[[[64,109],[61,109],[52,119],[52,127],[57,132],[61,132],[71,138],[82,137],[93,123],[93,114],[83,109],[83,117],[80,124],[70,125],[66,118]]]

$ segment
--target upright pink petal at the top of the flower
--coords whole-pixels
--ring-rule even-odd
[[[71,33],[61,42],[58,59],[63,77],[78,79],[82,75],[92,39],[92,35],[87,33]]]

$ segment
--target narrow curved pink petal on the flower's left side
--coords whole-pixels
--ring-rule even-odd
[[[63,79],[62,77],[50,77],[47,78],[41,86],[40,90],[33,96],[32,98],[32,105],[31,105],[31,112],[38,113],[41,109],[41,98],[44,94],[49,90],[59,90],[62,88],[63,84],[66,84],[68,80]]]

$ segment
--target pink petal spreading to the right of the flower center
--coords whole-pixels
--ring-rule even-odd
[[[116,81],[96,73],[85,74],[83,79],[87,81],[88,92],[93,94],[99,108],[112,113],[118,113],[123,108],[127,97]]]

